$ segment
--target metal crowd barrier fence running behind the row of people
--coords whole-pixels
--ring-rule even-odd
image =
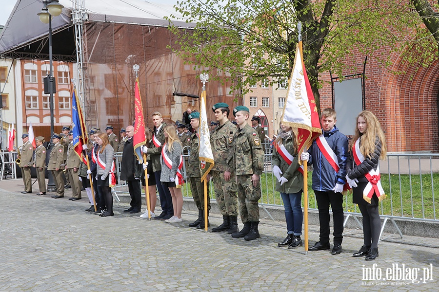
[[[260,178],[262,197],[259,204],[267,211],[266,206],[283,206],[283,202],[279,192],[275,191],[276,178],[272,172],[271,143],[264,143],[263,146],[265,157],[264,171]],[[183,155],[183,172],[186,182],[188,157],[188,154]],[[116,153],[119,184],[114,188],[115,192],[122,191],[123,187],[126,186],[126,183],[120,181],[120,159],[121,153]],[[381,183],[386,193],[386,199],[380,202],[380,215],[384,218],[382,229],[387,220],[390,219],[402,237],[402,233],[399,231],[394,219],[438,222],[435,185],[439,186],[439,154],[388,154],[385,161],[379,162],[379,167],[381,170]],[[312,167],[310,168],[308,175],[308,207],[317,210],[317,201],[311,186]],[[183,197],[192,197],[189,183],[183,185],[182,192]],[[215,199],[212,182],[210,182],[209,196],[211,199]],[[357,216],[361,216],[361,214],[357,205],[352,203],[352,194],[348,193],[344,196],[343,207],[346,215],[345,223],[350,217],[353,217],[358,222],[359,227],[362,228],[357,219]],[[267,214],[270,214],[269,211],[267,211]],[[271,215],[269,216],[271,217]]]

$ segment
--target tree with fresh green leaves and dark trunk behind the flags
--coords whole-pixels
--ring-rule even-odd
[[[300,21],[305,67],[319,109],[319,72],[342,76],[343,70],[362,66],[352,62],[354,47],[388,65],[389,50],[413,40],[407,36],[416,36],[420,21],[409,5],[402,0],[181,0],[177,12],[196,28],[171,29],[183,58],[224,71],[234,81],[232,89],[245,93],[267,76],[272,82],[289,78]]]

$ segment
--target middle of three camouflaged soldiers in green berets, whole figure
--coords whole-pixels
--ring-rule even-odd
[[[238,196],[232,154],[234,151],[233,137],[238,128],[228,119],[230,113],[228,104],[217,103],[212,107],[212,110],[215,112],[215,118],[220,122],[220,126],[217,126],[210,136],[215,161],[211,175],[218,208],[223,219],[220,226],[212,228],[212,232],[227,231],[232,234],[238,232]]]

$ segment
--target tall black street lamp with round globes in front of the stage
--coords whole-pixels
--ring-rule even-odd
[[[44,93],[49,93],[49,104],[50,104],[50,137],[52,138],[54,133],[54,102],[53,94],[56,93],[55,88],[55,78],[53,75],[53,55],[52,55],[52,16],[59,16],[62,12],[62,6],[58,0],[43,0],[44,7],[41,9],[40,13],[37,15],[40,17],[40,21],[44,24],[49,23],[49,74],[44,77]],[[51,140],[50,140],[51,141]],[[49,145],[52,145],[50,142]],[[49,146],[49,149],[52,148]],[[50,151],[50,150],[49,150]],[[49,152],[48,151],[48,152]],[[48,191],[54,191],[55,183],[53,183],[53,177],[49,172],[49,183],[47,184]]]

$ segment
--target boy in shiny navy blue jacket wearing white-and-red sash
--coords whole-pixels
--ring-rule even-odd
[[[332,255],[341,253],[343,240],[343,188],[348,162],[348,139],[335,126],[337,113],[333,109],[321,112],[322,134],[313,141],[300,159],[313,165],[313,190],[319,209],[320,238],[310,251],[329,250],[329,205],[334,219],[334,247]]]

